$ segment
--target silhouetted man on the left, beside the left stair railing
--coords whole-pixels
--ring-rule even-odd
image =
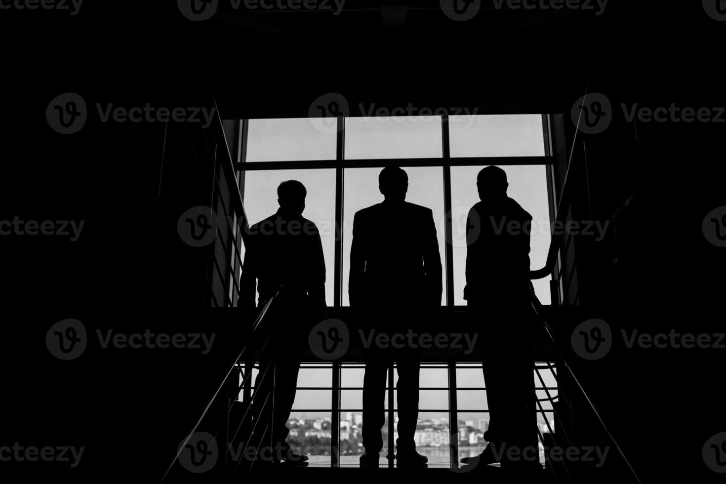
[[[290,432],[287,419],[295,401],[301,342],[307,341],[309,324],[322,319],[326,309],[320,235],[317,226],[302,216],[306,194],[305,186],[295,180],[277,187],[280,209],[250,227],[240,283],[240,305],[245,308],[254,308],[255,285],[259,305],[280,291],[262,328],[270,340],[255,380],[253,397],[261,398],[253,398],[252,407],[256,434],[271,427],[275,460],[307,460],[307,456],[294,454],[285,442]]]

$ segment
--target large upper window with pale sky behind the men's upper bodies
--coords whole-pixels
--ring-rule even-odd
[[[255,119],[242,121],[240,131],[236,168],[248,223],[275,213],[281,181],[306,186],[303,216],[322,236],[330,307],[348,305],[354,214],[383,201],[378,173],[390,165],[408,173],[406,200],[433,211],[442,304],[465,304],[465,221],[479,201],[476,175],[487,165],[507,172],[507,194],[533,217],[530,267],[544,266],[552,206],[545,115]],[[395,218],[381,223],[394,237]],[[550,303],[549,280],[534,281],[543,304]]]

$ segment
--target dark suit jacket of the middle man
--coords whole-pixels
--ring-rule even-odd
[[[351,306],[441,305],[441,256],[430,208],[382,202],[353,221]]]

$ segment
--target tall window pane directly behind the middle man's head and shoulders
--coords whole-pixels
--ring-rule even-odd
[[[343,305],[350,305],[348,299],[348,277],[351,262],[351,240],[353,239],[353,217],[358,210],[383,202],[378,190],[378,173],[382,168],[346,168],[343,189]],[[439,237],[441,266],[444,263],[444,168],[440,166],[404,168],[409,178],[406,201],[423,205],[433,210],[433,222]],[[396,237],[396,221],[381,221],[386,226],[388,237]],[[446,271],[441,271],[442,279]],[[442,298],[442,304],[446,298]]]

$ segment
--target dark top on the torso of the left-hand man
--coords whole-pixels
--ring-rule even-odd
[[[325,308],[325,258],[315,223],[303,216],[273,216],[250,227],[240,282],[241,306],[254,307],[256,280],[259,303],[282,287],[290,305]]]

